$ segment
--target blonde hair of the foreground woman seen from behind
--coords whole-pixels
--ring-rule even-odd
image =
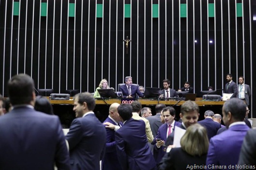
[[[209,147],[209,140],[206,129],[196,123],[187,128],[181,138],[181,148],[192,156],[206,154]]]

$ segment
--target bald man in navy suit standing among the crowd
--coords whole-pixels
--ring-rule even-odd
[[[117,112],[118,103],[114,103],[109,107],[109,116],[103,122],[106,125],[106,151],[105,156],[101,161],[101,170],[120,170],[120,164],[116,155],[114,132],[120,128],[120,117]],[[111,123],[111,124],[110,124]],[[115,125],[114,129],[111,129],[109,125]]]

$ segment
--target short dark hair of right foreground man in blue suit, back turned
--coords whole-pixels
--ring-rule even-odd
[[[223,111],[225,115],[230,112],[235,120],[243,121],[246,115],[246,105],[239,98],[231,98],[224,103]]]

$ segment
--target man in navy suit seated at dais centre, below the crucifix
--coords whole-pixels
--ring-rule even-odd
[[[139,97],[144,97],[138,86],[132,85],[132,77],[125,78],[124,85],[120,86],[119,91],[123,93],[124,98],[136,98],[136,94]]]

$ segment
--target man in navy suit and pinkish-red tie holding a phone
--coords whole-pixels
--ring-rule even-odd
[[[156,138],[153,141],[153,144],[155,144],[153,155],[156,160],[156,164],[160,163],[160,161],[162,160],[163,156],[166,153],[165,142],[167,136],[174,131],[175,126],[181,125],[180,122],[174,120],[175,114],[176,111],[173,107],[168,106],[163,109],[163,117],[165,120],[165,124],[160,126],[160,128],[157,131]]]

